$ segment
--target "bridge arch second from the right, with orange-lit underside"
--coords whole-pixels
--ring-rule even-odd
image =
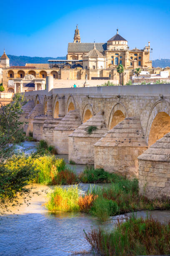
[[[115,125],[120,123],[128,117],[128,112],[122,102],[116,103],[110,113],[109,122],[108,122],[108,130],[111,130]]]

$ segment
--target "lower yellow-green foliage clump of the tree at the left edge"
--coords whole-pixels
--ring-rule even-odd
[[[19,195],[24,199],[29,196],[31,188],[25,186],[36,177],[33,163],[32,157],[14,155],[6,164],[0,165],[0,204],[3,210],[7,210],[10,203],[18,205]]]

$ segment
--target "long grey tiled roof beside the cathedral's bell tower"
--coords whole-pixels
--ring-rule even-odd
[[[93,49],[94,43],[68,43],[68,53],[69,52],[82,52],[87,53]],[[96,49],[103,52],[107,49],[106,43],[95,43]]]

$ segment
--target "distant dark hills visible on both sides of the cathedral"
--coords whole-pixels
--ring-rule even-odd
[[[29,56],[15,56],[7,54],[10,58],[10,66],[25,66],[26,63],[48,63],[48,59],[66,59],[64,57],[29,57]],[[170,67],[170,59],[155,59],[153,60],[153,67]]]

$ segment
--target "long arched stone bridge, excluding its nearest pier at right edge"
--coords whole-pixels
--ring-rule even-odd
[[[50,89],[25,92],[25,132],[76,163],[138,177],[138,156],[170,133],[170,84]]]

